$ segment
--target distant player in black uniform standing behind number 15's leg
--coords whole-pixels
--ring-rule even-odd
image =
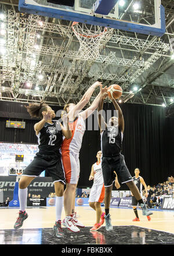
[[[145,196],[147,197],[147,195],[148,195],[147,185],[144,182],[143,177],[139,176],[139,174],[140,174],[139,168],[136,168],[134,172],[135,172],[135,176],[133,176],[133,182],[136,184],[136,186],[137,186],[138,190],[140,191],[140,194],[142,195],[142,197],[143,197],[142,187],[144,186],[144,189],[146,191]],[[132,221],[140,221],[139,215],[137,213],[137,208],[136,208],[137,204],[139,204],[139,202],[136,200],[136,198],[132,194],[132,207],[133,207],[133,211],[134,211],[135,216],[136,216],[136,218],[133,219]],[[147,216],[147,219],[148,219],[148,221],[150,221],[151,220],[150,216]]]

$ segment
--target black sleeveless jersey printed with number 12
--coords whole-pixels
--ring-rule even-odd
[[[61,143],[63,142],[63,134],[60,122],[52,120],[52,124],[45,123],[44,127],[39,131],[38,148],[39,153],[45,155],[59,155]]]

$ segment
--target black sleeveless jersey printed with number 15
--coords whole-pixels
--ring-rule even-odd
[[[115,157],[121,152],[122,134],[118,126],[108,126],[101,134],[103,157]]]

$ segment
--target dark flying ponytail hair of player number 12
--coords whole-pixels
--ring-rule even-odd
[[[28,113],[32,118],[43,118],[42,112],[47,110],[48,105],[44,102],[40,104],[37,103],[30,103],[26,106]]]

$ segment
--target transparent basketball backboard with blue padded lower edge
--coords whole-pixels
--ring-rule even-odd
[[[102,1],[102,7],[96,10],[96,3]],[[72,7],[46,0],[19,0],[19,11],[159,37],[165,33],[165,9],[161,0],[117,0],[114,8],[103,15],[109,1],[75,0]]]

